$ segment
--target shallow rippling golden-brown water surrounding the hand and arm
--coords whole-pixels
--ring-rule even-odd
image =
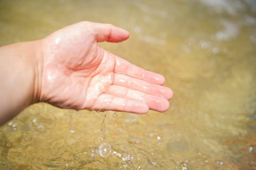
[[[256,3],[0,1],[0,45],[88,20],[130,32],[115,55],[165,76],[165,113],[73,111],[44,103],[0,128],[0,169],[256,169]],[[12,123],[11,123],[12,122]],[[15,124],[16,123],[16,124]]]

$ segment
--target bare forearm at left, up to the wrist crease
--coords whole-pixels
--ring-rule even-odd
[[[0,48],[0,125],[37,102],[40,41]]]

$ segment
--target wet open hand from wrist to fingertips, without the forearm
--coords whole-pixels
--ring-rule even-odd
[[[42,39],[39,100],[76,110],[166,111],[173,94],[162,86],[163,76],[97,45],[128,37],[127,31],[116,26],[84,21]]]

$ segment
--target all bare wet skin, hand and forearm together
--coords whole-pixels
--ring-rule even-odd
[[[163,76],[111,54],[97,42],[129,33],[110,24],[79,22],[44,39],[0,48],[0,124],[36,102],[70,109],[164,112],[172,91]]]

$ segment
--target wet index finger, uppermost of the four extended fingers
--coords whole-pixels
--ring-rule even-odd
[[[145,80],[147,82],[163,85],[165,82],[164,77],[161,74],[157,74],[151,71],[144,70],[118,56],[115,55],[115,73],[125,74],[127,76]]]

